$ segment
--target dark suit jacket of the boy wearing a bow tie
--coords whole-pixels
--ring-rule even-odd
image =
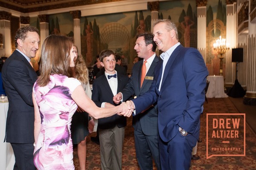
[[[127,76],[117,73],[117,93],[121,91],[129,81],[130,79]],[[92,100],[98,107],[101,107],[102,102],[116,105],[113,102],[113,96],[105,74],[93,81]],[[98,127],[100,129],[112,129],[116,125],[118,127],[125,127],[126,117],[115,114],[110,117],[98,119]]]

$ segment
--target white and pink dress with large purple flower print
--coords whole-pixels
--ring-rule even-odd
[[[79,80],[53,74],[50,82],[40,87],[35,82],[33,93],[41,116],[41,130],[34,150],[38,170],[74,170],[73,144],[70,133],[77,105],[71,98]]]

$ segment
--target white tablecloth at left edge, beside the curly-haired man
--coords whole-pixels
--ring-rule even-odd
[[[15,156],[10,143],[3,142],[6,130],[8,99],[0,99],[0,170],[13,170]]]

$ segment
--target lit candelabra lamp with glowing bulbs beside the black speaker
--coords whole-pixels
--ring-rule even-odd
[[[222,73],[223,73],[222,60],[224,58],[223,54],[225,54],[226,51],[229,50],[228,43],[226,42],[226,39],[221,38],[221,36],[220,36],[220,38],[218,40],[216,40],[216,42],[213,44],[213,49],[215,51],[217,51],[218,54],[221,55],[219,58],[220,58],[220,75],[222,76]]]

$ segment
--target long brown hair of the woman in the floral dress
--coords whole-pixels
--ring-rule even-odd
[[[52,34],[49,35],[42,45],[40,76],[38,85],[46,86],[51,74],[68,76],[70,67],[70,50],[73,42],[70,37]]]

